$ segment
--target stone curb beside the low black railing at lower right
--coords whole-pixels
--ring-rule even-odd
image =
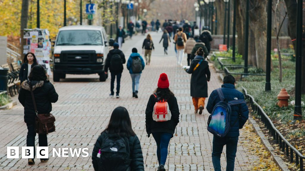
[[[269,143],[268,139],[265,137],[265,134],[260,129],[259,125],[256,123],[256,121],[249,117],[248,119],[249,123],[252,124],[252,127],[254,128],[255,133],[260,137],[261,143],[265,146],[265,148],[268,150],[269,154],[272,157],[272,160],[276,163],[276,165],[282,170],[282,171],[290,171],[288,166],[285,164],[283,159],[274,153],[274,148]]]

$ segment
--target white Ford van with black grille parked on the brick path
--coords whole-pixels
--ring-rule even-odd
[[[65,26],[59,29],[54,45],[53,80],[66,74],[99,74],[106,81],[104,64],[108,36],[102,26]]]

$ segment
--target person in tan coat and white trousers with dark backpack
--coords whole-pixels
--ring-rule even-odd
[[[179,31],[175,34],[174,41],[176,43],[177,48],[177,64],[182,66],[182,60],[183,60],[183,51],[185,48],[185,42],[187,40],[186,34],[183,33],[183,28],[180,27]]]

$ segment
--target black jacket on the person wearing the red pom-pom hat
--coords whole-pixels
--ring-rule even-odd
[[[159,99],[161,100],[161,99]],[[154,95],[149,97],[146,110],[145,110],[145,123],[146,123],[146,132],[147,135],[150,135],[154,132],[166,132],[173,134],[177,124],[179,123],[179,106],[175,96],[167,100],[168,106],[170,108],[171,119],[166,122],[156,122],[152,119],[153,106],[157,102],[157,99]]]

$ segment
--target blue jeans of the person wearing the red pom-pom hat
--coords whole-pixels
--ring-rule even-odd
[[[152,133],[152,136],[157,143],[157,157],[159,166],[164,166],[167,158],[168,144],[170,143],[170,138],[172,138],[173,135],[166,132],[154,132]]]

